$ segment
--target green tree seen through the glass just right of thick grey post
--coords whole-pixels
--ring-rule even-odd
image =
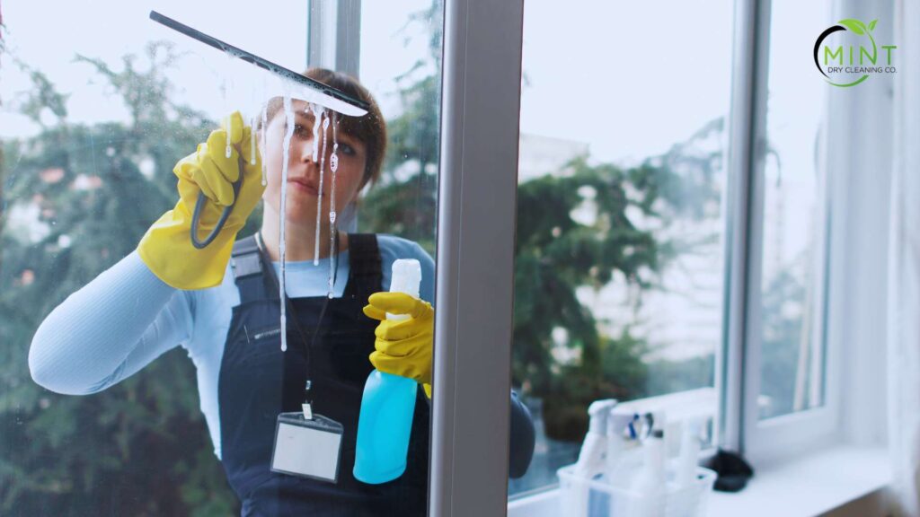
[[[615,271],[639,286],[650,285],[643,270],[658,270],[661,243],[638,228],[627,209],[653,216],[657,196],[651,188],[665,171],[644,164],[624,170],[590,166],[580,158],[571,174],[545,176],[518,188],[514,269],[513,382],[543,398],[547,435],[571,440],[583,436],[592,400],[634,398],[645,385],[641,355],[645,345],[628,332],[602,336],[576,289],[600,289]],[[645,186],[627,196],[627,185]],[[574,213],[592,204],[591,221]],[[553,339],[556,328],[567,339]],[[577,349],[579,360],[558,367],[554,349]]]

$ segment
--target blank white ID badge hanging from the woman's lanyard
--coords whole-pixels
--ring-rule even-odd
[[[342,424],[301,411],[278,415],[271,471],[335,483],[339,479]]]

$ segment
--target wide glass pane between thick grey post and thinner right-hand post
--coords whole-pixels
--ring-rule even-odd
[[[512,495],[575,461],[593,400],[716,414],[731,25],[728,1],[525,5],[512,382],[537,445]]]

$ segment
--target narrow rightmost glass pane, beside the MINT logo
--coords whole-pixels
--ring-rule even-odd
[[[818,150],[827,86],[813,73],[824,2],[772,4],[761,278],[761,419],[822,405],[824,225]],[[811,41],[810,41],[811,39]],[[804,47],[802,46],[804,45]]]

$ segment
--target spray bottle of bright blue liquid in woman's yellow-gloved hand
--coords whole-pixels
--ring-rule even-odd
[[[407,293],[419,297],[421,265],[416,259],[398,259],[393,263],[390,293]],[[386,319],[408,319],[408,315],[391,315]],[[392,481],[406,471],[409,433],[419,390],[414,379],[377,370],[364,384],[361,413],[358,417],[358,442],[355,451],[355,479],[377,485]]]

